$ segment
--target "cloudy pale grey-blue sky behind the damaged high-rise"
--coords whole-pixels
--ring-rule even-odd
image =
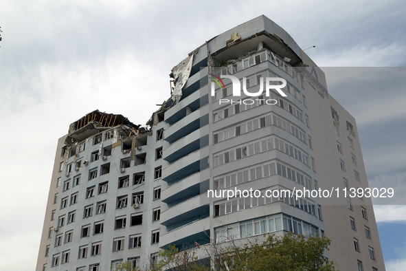
[[[316,46],[306,53],[357,120],[370,184],[403,191],[405,12],[398,0],[0,0],[0,270],[36,265],[56,142],[71,122],[99,109],[145,124],[170,95],[174,65],[262,14]],[[404,271],[406,206],[395,204],[374,210],[387,271]]]

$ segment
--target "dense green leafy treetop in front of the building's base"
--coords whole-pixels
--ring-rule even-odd
[[[264,235],[242,247],[227,246],[216,255],[217,270],[234,271],[334,271],[334,263],[326,260],[323,252],[330,245],[329,239],[295,236]]]

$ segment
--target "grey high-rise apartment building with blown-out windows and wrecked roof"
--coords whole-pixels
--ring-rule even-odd
[[[60,138],[37,271],[139,266],[169,244],[267,232],[326,235],[338,270],[385,270],[370,198],[280,193],[368,187],[354,118],[288,33],[260,16],[171,77],[146,127],[96,110]],[[216,197],[250,188],[260,197]]]

